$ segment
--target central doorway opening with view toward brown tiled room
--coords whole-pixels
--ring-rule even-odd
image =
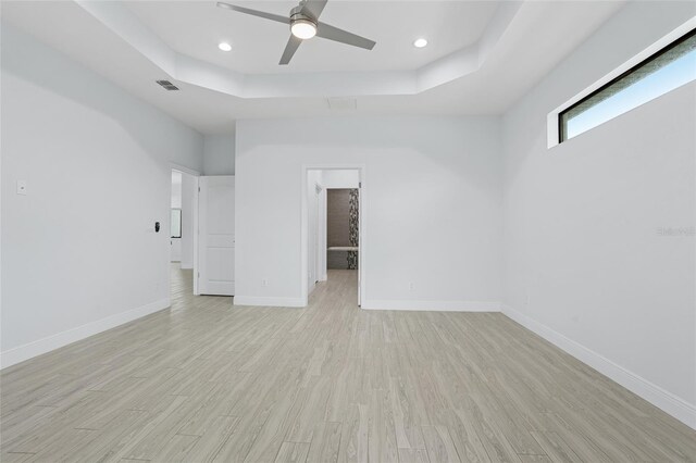
[[[355,281],[361,303],[363,275],[362,166],[306,167],[302,236],[306,301],[332,277]]]

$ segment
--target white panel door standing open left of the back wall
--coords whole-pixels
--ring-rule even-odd
[[[199,177],[198,293],[235,293],[235,177]]]

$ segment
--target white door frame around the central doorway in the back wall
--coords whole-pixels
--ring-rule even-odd
[[[368,182],[366,182],[366,166],[365,164],[303,164],[301,172],[301,185],[302,185],[302,201],[300,210],[300,297],[302,304],[307,305],[309,302],[309,213],[308,213],[308,198],[307,198],[307,176],[308,171],[358,171],[360,182],[360,197],[359,197],[359,227],[358,227],[358,242],[360,243],[360,251],[358,251],[358,305],[362,304],[365,298],[365,255],[368,247],[368,220],[366,220],[366,203],[368,203]]]

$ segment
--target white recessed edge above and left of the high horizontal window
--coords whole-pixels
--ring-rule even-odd
[[[647,47],[646,49],[641,51],[639,53],[635,54],[629,61],[626,61],[625,63],[621,64],[620,66],[618,66],[617,68],[611,71],[609,74],[605,75],[599,80],[597,80],[594,84],[592,84],[591,86],[586,87],[584,90],[582,90],[581,92],[579,92],[577,95],[575,95],[574,97],[572,97],[571,99],[566,101],[563,104],[559,105],[554,111],[548,113],[547,116],[546,116],[546,134],[547,134],[547,143],[546,145],[547,145],[547,148],[551,149],[551,148],[560,145],[559,141],[558,141],[558,138],[559,138],[559,134],[558,134],[558,115],[562,111],[564,111],[567,108],[573,105],[577,101],[582,100],[583,98],[585,98],[586,96],[588,96],[589,93],[592,93],[596,89],[600,88],[605,84],[613,80],[616,77],[618,77],[621,74],[623,74],[624,72],[629,71],[631,67],[635,66],[636,64],[639,64],[642,61],[644,61],[644,60],[648,59],[649,57],[651,57],[652,54],[657,53],[658,51],[660,51],[661,49],[663,49],[668,45],[672,43],[674,40],[679,39],[683,35],[687,34],[689,30],[692,30],[695,27],[696,27],[696,16],[692,17],[691,20],[688,20],[687,22],[685,22],[684,24],[682,24],[681,26],[679,26],[678,28],[675,28],[671,33],[667,34],[666,36],[663,36],[662,38],[660,38],[659,40],[657,40],[656,42],[654,42],[652,45],[650,45],[649,47]],[[647,103],[647,101],[645,103]],[[643,104],[645,104],[645,103],[643,103]]]

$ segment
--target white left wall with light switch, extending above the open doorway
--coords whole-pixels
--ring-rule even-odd
[[[7,24],[1,51],[7,366],[169,305],[169,163],[202,137]]]

